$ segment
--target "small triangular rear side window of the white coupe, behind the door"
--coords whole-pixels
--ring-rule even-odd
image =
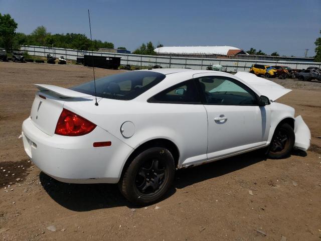
[[[154,95],[148,102],[199,104],[201,100],[195,82],[191,79]]]

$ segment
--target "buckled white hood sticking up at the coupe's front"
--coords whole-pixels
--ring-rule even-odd
[[[270,80],[257,77],[255,74],[247,72],[237,72],[235,76],[240,78],[245,83],[251,85],[261,95],[265,95],[273,101],[292,91],[291,89],[286,89],[283,86],[276,84]]]

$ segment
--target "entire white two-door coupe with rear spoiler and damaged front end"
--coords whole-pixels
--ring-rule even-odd
[[[155,202],[176,169],[269,147],[307,150],[310,131],[274,102],[291,91],[254,74],[191,69],[130,71],[70,89],[36,84],[24,148],[68,183],[118,183],[136,204]]]

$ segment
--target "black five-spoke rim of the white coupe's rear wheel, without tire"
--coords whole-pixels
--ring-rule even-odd
[[[146,160],[135,176],[135,185],[142,195],[153,195],[162,189],[166,168],[157,159]]]

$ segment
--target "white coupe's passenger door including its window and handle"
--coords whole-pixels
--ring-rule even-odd
[[[204,96],[208,117],[208,160],[266,145],[269,106],[240,81],[224,75],[193,76]]]

